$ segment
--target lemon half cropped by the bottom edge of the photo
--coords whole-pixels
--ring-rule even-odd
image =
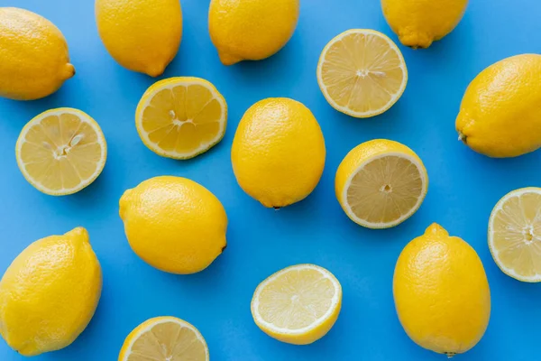
[[[128,335],[118,361],[208,361],[205,338],[175,317],[144,321]]]

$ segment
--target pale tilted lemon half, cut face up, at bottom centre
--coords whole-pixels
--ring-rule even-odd
[[[252,316],[272,338],[307,345],[333,327],[342,305],[342,287],[335,276],[315,264],[284,268],[255,290]]]

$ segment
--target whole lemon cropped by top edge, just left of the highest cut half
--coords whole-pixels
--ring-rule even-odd
[[[295,32],[300,0],[211,0],[208,30],[220,60],[232,65],[280,51]]]

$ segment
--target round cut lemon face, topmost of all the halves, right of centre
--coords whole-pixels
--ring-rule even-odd
[[[399,100],[408,69],[389,37],[352,29],[326,45],[317,64],[317,82],[336,110],[365,118],[385,112]]]

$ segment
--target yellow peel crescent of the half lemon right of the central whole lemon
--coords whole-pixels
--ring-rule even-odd
[[[359,168],[359,166],[362,163],[368,162],[374,157],[377,157],[379,155],[383,154],[389,154],[389,153],[399,153],[399,154],[406,154],[412,158],[414,158],[419,164],[423,166],[423,171],[425,173],[425,180],[426,180],[426,190],[428,189],[428,174],[426,173],[426,169],[424,169],[424,164],[421,161],[421,159],[418,157],[417,153],[413,152],[408,146],[395,142],[390,141],[387,139],[373,139],[368,142],[361,143],[354,147],[347,155],[344,157],[344,160],[340,163],[338,166],[338,170],[336,170],[336,176],[335,176],[335,195],[336,199],[338,199],[338,203],[340,203],[340,206],[342,209],[344,209],[345,214],[348,218],[353,220],[353,222],[366,227],[366,225],[362,225],[357,222],[355,218],[352,218],[349,212],[347,211],[347,207],[345,206],[347,204],[346,200],[346,194],[345,194],[345,187],[350,182],[350,180],[353,178],[355,171]],[[425,198],[426,193],[423,195],[423,199]],[[419,202],[419,207],[422,204],[422,201]],[[417,209],[414,209],[414,211],[411,213],[410,217],[415,214]],[[405,221],[408,218],[405,218],[402,220]],[[394,227],[396,225],[392,225],[390,227]]]

